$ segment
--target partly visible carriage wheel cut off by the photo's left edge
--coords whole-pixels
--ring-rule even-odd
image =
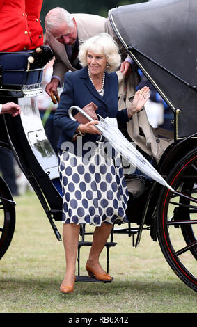
[[[15,231],[15,202],[0,178],[0,259],[8,250]]]

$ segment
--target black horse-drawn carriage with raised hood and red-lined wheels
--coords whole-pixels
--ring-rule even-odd
[[[173,271],[195,291],[196,14],[195,0],[158,0],[120,6],[109,11],[111,26],[118,39],[173,112],[174,141],[162,155],[157,170],[175,192],[154,180],[149,181],[143,194],[129,201],[127,216],[130,222],[127,228],[125,225],[123,228],[115,225],[111,241],[106,244],[109,263],[109,248],[116,244],[113,234],[136,235],[136,239],[133,238],[136,247],[141,241],[142,231],[150,230],[152,240],[158,239]],[[18,56],[18,67],[12,67],[16,61],[12,60],[13,56]],[[45,135],[36,102],[36,95],[42,92],[42,63],[39,63],[37,56],[38,60],[29,64],[29,56],[35,56],[35,52],[0,54],[0,103],[13,101],[22,107],[22,114],[16,118],[1,115],[0,145],[13,152],[36,192],[57,239],[61,240],[55,225],[62,214],[58,158]],[[15,202],[2,178],[0,184],[1,258],[15,230]],[[89,245],[85,234],[81,227],[79,253],[81,246]],[[182,245],[177,246],[180,239]]]

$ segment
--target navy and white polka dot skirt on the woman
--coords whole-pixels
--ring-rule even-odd
[[[81,137],[81,136],[80,136]],[[103,145],[104,143],[102,143]],[[83,157],[61,150],[59,170],[63,190],[63,223],[128,222],[129,193],[119,154],[104,155],[101,143],[84,164]],[[118,164],[115,164],[115,162]]]

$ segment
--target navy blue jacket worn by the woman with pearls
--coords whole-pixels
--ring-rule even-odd
[[[117,118],[127,122],[127,109],[118,111],[118,77],[116,72],[108,74],[104,81],[104,96],[100,96],[88,77],[88,68],[84,67],[75,72],[68,72],[64,78],[64,88],[61,93],[60,102],[54,115],[54,125],[61,129],[61,136],[58,147],[65,141],[72,141],[72,137],[76,132],[79,122],[74,122],[68,117],[68,109],[70,106],[79,106],[83,108],[86,104],[94,102],[98,108],[96,113],[103,118]],[[78,111],[76,111],[77,113]],[[72,115],[76,114],[74,110]],[[96,141],[100,136],[94,134],[85,134],[83,136],[83,144],[86,141]]]

